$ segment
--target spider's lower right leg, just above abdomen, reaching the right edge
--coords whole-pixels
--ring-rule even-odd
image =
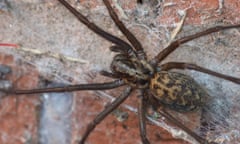
[[[234,82],[236,84],[240,84],[240,78],[224,75],[224,74],[197,66],[195,64],[190,64],[190,63],[168,62],[166,64],[161,65],[160,69],[164,71],[167,71],[169,69],[192,69],[192,70],[196,70],[199,72],[203,72],[209,75],[213,75],[215,77],[219,77],[219,78]]]

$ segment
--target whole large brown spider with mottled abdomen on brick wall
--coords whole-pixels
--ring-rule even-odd
[[[240,28],[240,24],[229,26],[217,26],[205,31],[189,35],[173,41],[169,46],[159,52],[153,59],[148,59],[141,43],[138,39],[125,27],[114,12],[108,0],[103,0],[108,12],[114,23],[120,31],[126,36],[128,42],[123,41],[116,36],[102,30],[100,27],[91,23],[85,16],[79,13],[65,0],[58,0],[72,14],[74,14],[81,23],[85,24],[90,30],[104,39],[112,42],[114,45],[110,50],[115,52],[110,69],[111,71],[101,71],[100,73],[106,77],[115,80],[104,83],[69,85],[66,87],[41,88],[31,90],[1,90],[7,94],[35,94],[46,92],[65,92],[80,90],[108,90],[121,86],[126,86],[123,93],[117,97],[109,106],[107,106],[95,119],[87,126],[79,144],[84,144],[89,134],[107,115],[115,110],[123,103],[128,96],[134,91],[140,92],[138,101],[138,119],[140,137],[144,144],[150,144],[146,134],[146,109],[151,105],[167,120],[186,131],[194,137],[199,143],[214,143],[198,136],[189,130],[186,126],[176,120],[169,114],[165,108],[175,110],[177,112],[190,112],[202,108],[207,101],[208,93],[190,76],[182,73],[170,71],[172,69],[191,69],[213,75],[236,84],[240,84],[240,78],[224,75],[204,67],[190,63],[168,62],[161,64],[170,53],[177,49],[181,44],[196,39],[198,37],[211,34],[213,32],[226,30],[230,28]],[[163,108],[162,108],[163,107]]]

